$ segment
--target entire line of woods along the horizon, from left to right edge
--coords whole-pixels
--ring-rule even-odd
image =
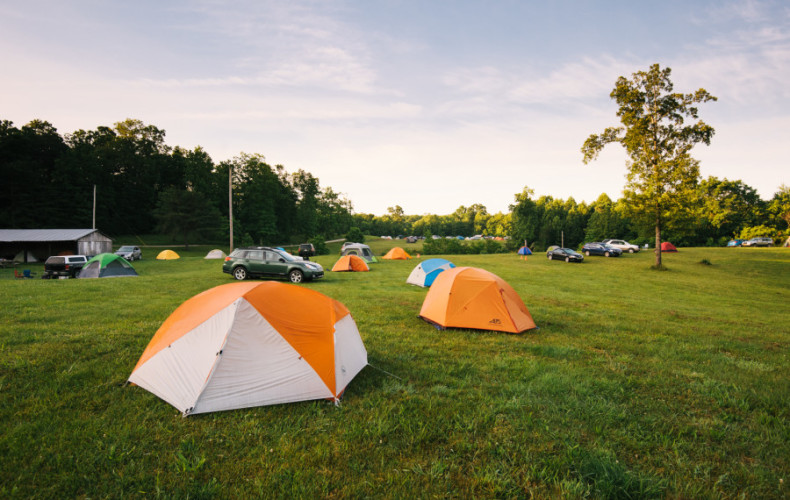
[[[525,187],[508,213],[481,204],[452,214],[354,213],[352,202],[304,170],[289,173],[259,154],[214,163],[200,147],[165,144],[165,131],[127,119],[113,127],[61,136],[50,123],[20,128],[0,121],[0,220],[9,229],[90,227],[96,186],[96,227],[110,236],[161,233],[185,244],[227,241],[229,171],[237,245],[274,245],[342,237],[352,228],[371,235],[511,237],[533,249],[622,238],[652,242],[652,221],[626,198],[602,194],[592,203],[534,197]],[[740,180],[708,177],[666,214],[665,238],[683,246],[724,245],[731,238],[786,237],[790,188],[762,200]]]

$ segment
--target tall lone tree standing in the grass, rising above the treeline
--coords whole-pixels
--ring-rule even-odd
[[[700,88],[692,94],[673,92],[670,68],[658,64],[638,71],[629,80],[620,77],[609,95],[619,105],[621,127],[609,127],[584,141],[584,163],[596,159],[609,143],[623,146],[630,157],[625,197],[635,215],[649,217],[655,226],[656,262],[661,267],[661,229],[682,208],[699,177],[699,165],[690,156],[698,143],[710,144],[713,127],[699,120],[696,104],[716,98]],[[697,120],[690,125],[685,120]]]

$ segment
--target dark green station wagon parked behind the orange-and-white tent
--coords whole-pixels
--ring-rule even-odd
[[[291,283],[324,277],[324,268],[315,262],[269,247],[237,248],[225,257],[222,272],[237,280],[247,278],[287,278]]]

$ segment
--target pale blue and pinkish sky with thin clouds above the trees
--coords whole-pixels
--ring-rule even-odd
[[[506,212],[622,194],[620,76],[704,88],[703,177],[790,184],[790,3],[695,0],[0,0],[0,120],[127,118],[219,163],[303,169],[357,213]]]

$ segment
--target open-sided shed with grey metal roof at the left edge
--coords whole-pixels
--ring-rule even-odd
[[[19,262],[50,255],[112,252],[112,239],[98,229],[0,229],[0,258]]]

